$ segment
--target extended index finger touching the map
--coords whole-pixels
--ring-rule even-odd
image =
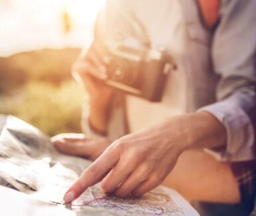
[[[100,182],[106,173],[118,162],[119,156],[116,150],[106,150],[97,160],[95,160],[64,195],[65,203],[70,203],[77,199],[87,188]]]

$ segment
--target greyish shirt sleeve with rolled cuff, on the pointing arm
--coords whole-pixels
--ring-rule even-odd
[[[217,102],[199,111],[215,116],[227,131],[223,148],[207,150],[218,160],[256,159],[256,1],[222,1],[212,44],[214,70],[221,76]]]

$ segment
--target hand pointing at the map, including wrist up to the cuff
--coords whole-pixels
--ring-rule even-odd
[[[117,197],[144,193],[159,186],[188,148],[219,145],[225,133],[209,113],[172,117],[164,123],[116,140],[82,173],[68,189],[70,203],[87,188],[101,182],[106,193]],[[216,136],[208,136],[215,132]],[[218,137],[218,138],[215,138]]]

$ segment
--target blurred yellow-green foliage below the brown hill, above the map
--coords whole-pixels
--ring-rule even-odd
[[[21,93],[2,97],[0,113],[14,115],[48,135],[80,133],[82,90],[72,80],[59,87],[43,81],[29,82]]]

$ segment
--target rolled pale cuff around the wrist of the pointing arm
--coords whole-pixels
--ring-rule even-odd
[[[216,160],[239,162],[255,159],[253,125],[248,115],[229,101],[220,101],[199,109],[211,113],[225,127],[227,143],[224,148],[205,149]]]

